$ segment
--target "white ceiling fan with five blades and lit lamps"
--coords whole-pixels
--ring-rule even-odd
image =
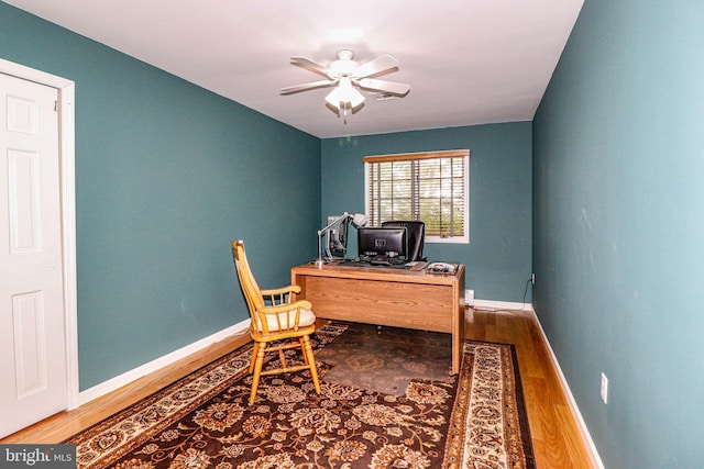
[[[290,62],[293,65],[310,70],[314,74],[322,75],[326,79],[282,88],[280,93],[293,94],[334,86],[336,88],[326,97],[326,102],[338,115],[342,110],[346,116],[348,110],[354,112],[364,103],[364,96],[358,88],[398,97],[404,97],[410,91],[408,85],[374,78],[398,70],[398,60],[391,55],[383,55],[366,64],[360,64],[354,60],[352,51],[342,49],[338,52],[337,60],[331,62],[328,66],[306,57],[292,57]]]

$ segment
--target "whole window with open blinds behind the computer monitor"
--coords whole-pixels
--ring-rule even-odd
[[[469,159],[468,149],[364,157],[370,225],[420,220],[427,242],[469,243]]]

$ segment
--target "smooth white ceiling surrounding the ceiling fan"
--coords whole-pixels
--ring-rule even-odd
[[[534,118],[583,0],[6,0],[315,136]],[[329,88],[280,96],[340,48],[388,54],[410,85],[345,120]]]

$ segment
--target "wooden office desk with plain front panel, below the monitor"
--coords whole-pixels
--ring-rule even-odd
[[[464,266],[454,275],[422,269],[322,267],[304,264],[290,269],[299,298],[312,303],[316,316],[452,334],[452,367],[460,371],[464,339]]]

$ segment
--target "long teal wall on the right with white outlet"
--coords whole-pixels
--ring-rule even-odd
[[[607,468],[704,464],[702,24],[586,0],[534,120],[534,304]]]

